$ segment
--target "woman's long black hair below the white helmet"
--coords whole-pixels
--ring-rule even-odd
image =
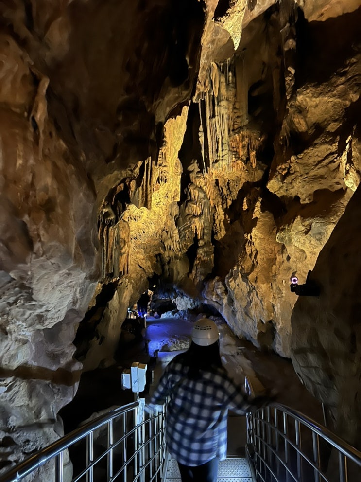
[[[200,376],[200,370],[214,372],[223,367],[219,351],[219,341],[208,346],[200,346],[191,342],[189,349],[176,357],[177,361],[189,367],[188,378],[195,380]]]

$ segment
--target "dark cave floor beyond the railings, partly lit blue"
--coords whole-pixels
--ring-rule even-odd
[[[81,375],[74,399],[59,413],[64,422],[64,432],[69,433],[77,428],[94,412],[132,402],[134,394],[121,388],[122,370],[129,368],[134,361],[154,365],[154,351],[163,346],[155,364],[155,383],[150,387],[152,391],[164,366],[185,348],[184,339],[189,336],[190,326],[191,323],[185,320],[155,320],[149,317],[147,329],[142,332],[143,339],[120,344],[114,365]],[[249,375],[253,381],[259,380],[263,387],[277,391],[277,401],[323,423],[321,404],[302,385],[293,370],[291,360],[279,357],[273,352],[258,350],[246,340],[232,337],[229,343],[231,335],[226,324],[221,326],[220,332],[222,360],[231,376],[239,383],[243,383],[245,375]],[[222,342],[222,339],[227,342]],[[140,394],[142,395],[144,393]]]

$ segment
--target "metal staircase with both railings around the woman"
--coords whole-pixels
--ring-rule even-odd
[[[32,455],[0,482],[178,482],[164,428],[164,411],[146,413],[139,399]],[[221,462],[218,481],[361,481],[361,452],[280,404],[247,414],[246,456]]]

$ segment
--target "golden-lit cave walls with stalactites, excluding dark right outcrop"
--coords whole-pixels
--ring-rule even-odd
[[[292,355],[289,280],[306,280],[360,181],[359,2],[204,7],[0,7],[9,463],[58,436],[81,369],[113,362],[154,275],[177,306],[211,306],[236,335],[292,356],[321,393]]]

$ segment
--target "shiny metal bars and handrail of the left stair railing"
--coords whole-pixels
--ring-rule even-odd
[[[117,420],[121,421],[122,433],[114,433],[113,423]],[[129,423],[133,423],[133,427],[128,430]],[[94,432],[103,427],[107,428],[107,447],[101,455],[94,458]],[[132,439],[133,453],[129,459],[126,454],[127,439]],[[71,474],[65,479],[64,454],[83,440],[86,441],[85,468],[75,477]],[[122,449],[123,461],[117,473],[114,473],[116,448]],[[142,399],[110,410],[20,462],[0,476],[0,482],[19,482],[52,460],[54,466],[51,470],[55,482],[83,481],[84,476],[87,482],[93,482],[94,470],[104,458],[107,460],[106,482],[115,481],[120,475],[123,475],[123,481],[127,481],[127,470],[128,473],[131,472],[133,481],[143,482],[146,471],[150,481],[160,481],[165,460],[164,411],[150,411],[145,414]],[[104,476],[102,480],[105,482]],[[49,479],[47,482],[50,482]]]

